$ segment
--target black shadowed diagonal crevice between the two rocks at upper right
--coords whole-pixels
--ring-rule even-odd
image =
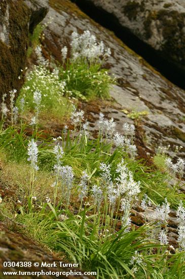
[[[130,49],[143,57],[149,64],[157,69],[169,81],[185,89],[185,69],[167,60],[162,53],[139,40],[130,30],[123,27],[116,16],[95,6],[89,0],[71,0],[94,21],[113,31]]]

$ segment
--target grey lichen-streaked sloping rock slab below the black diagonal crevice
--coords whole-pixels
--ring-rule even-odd
[[[106,117],[114,117],[121,132],[123,122],[135,122],[138,151],[145,157],[153,153],[160,145],[169,145],[170,155],[174,155],[175,146],[182,146],[180,154],[185,156],[185,106],[184,91],[163,78],[145,60],[136,55],[113,32],[108,31],[85,15],[75,4],[68,0],[29,0],[25,3],[32,9],[49,8],[43,23],[52,17],[52,23],[45,29],[42,42],[46,57],[61,61],[61,48],[69,47],[72,31],[82,32],[89,29],[98,40],[102,40],[112,51],[106,65],[118,78],[110,94],[116,100],[115,107],[102,108]],[[114,2],[117,3],[117,2]],[[101,110],[89,110],[93,123]],[[123,112],[124,110],[124,112]],[[148,115],[132,120],[128,112],[147,111]],[[89,119],[90,120],[90,119]],[[92,125],[93,126],[93,125]],[[96,123],[93,129],[96,129]],[[150,153],[151,152],[151,153]]]

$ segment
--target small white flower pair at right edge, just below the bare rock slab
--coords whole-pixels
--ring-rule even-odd
[[[182,177],[184,173],[185,168],[185,161],[181,158],[178,158],[177,163],[173,164],[171,158],[167,158],[165,160],[166,167],[169,170],[169,172],[175,176],[176,173],[179,173],[179,176]]]

